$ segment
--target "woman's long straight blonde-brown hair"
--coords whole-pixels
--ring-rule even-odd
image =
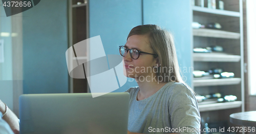
[[[188,89],[193,91],[182,79],[182,72],[179,68],[176,48],[174,45],[173,35],[162,30],[155,24],[138,25],[129,33],[127,39],[132,35],[147,36],[150,47],[158,55],[160,66],[158,67],[157,76],[162,76],[161,82],[177,82],[183,83]],[[156,58],[156,57],[155,57]],[[165,79],[167,76],[167,79]],[[195,93],[193,91],[193,93]]]

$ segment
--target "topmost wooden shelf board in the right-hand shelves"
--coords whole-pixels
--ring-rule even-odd
[[[220,10],[220,9],[208,9],[208,8],[202,8],[202,7],[198,7],[198,6],[193,6],[193,11],[233,16],[233,17],[240,17],[240,12],[226,11],[226,10]]]

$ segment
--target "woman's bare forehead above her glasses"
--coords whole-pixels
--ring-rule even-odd
[[[151,50],[150,42],[145,35],[132,35],[127,39],[125,46],[129,49],[135,48],[141,51]]]

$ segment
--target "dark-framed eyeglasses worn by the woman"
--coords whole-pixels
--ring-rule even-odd
[[[119,46],[119,52],[120,52],[120,55],[122,57],[125,57],[128,51],[130,51],[130,56],[134,60],[136,60],[136,59],[138,59],[140,57],[140,53],[146,53],[146,54],[157,56],[156,54],[153,54],[153,53],[148,53],[148,52],[140,51],[140,50],[137,50],[137,49],[134,49],[134,48],[128,49],[125,46]]]

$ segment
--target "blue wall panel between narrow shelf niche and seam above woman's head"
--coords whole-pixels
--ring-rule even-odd
[[[89,35],[100,35],[106,55],[120,55],[118,46],[126,43],[132,28],[142,24],[141,4],[139,0],[90,1]],[[127,82],[114,92],[123,92],[133,86],[138,86],[135,81]]]

